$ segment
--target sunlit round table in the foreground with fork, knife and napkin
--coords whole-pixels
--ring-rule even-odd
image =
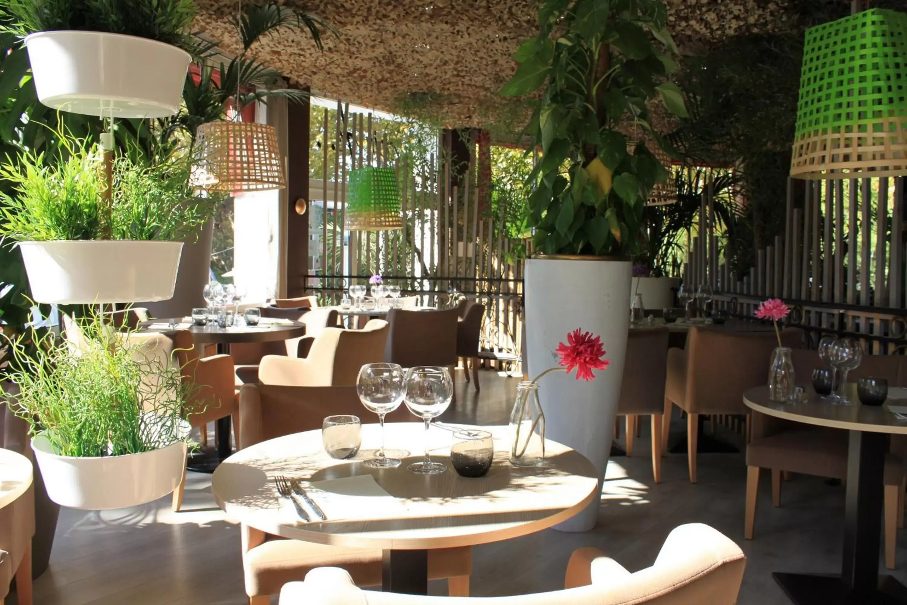
[[[352,460],[331,458],[322,444],[321,431],[308,431],[233,454],[214,472],[211,492],[229,518],[262,532],[383,550],[383,589],[410,594],[427,593],[429,550],[539,532],[571,518],[600,493],[590,461],[550,440],[545,444],[543,465],[512,466],[507,426],[482,427],[493,434],[494,460],[491,470],[480,478],[465,478],[453,470],[453,433],[434,425],[429,434],[431,455],[447,469],[434,475],[411,473],[406,467],[423,457],[426,435],[422,423],[391,423],[385,428],[387,446],[404,459],[396,468],[363,464],[375,455],[374,449],[360,451]],[[379,444],[379,430],[378,424],[364,424],[362,443]],[[301,480],[327,521],[314,515],[312,522],[295,518],[293,507],[282,503],[285,499],[275,487],[278,475]],[[369,493],[373,497],[363,500],[363,495],[349,487],[350,481],[373,486]],[[375,490],[380,499],[375,498]]]

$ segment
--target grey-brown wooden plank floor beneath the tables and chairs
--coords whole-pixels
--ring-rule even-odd
[[[445,421],[506,423],[519,378],[483,371],[481,380],[483,389],[477,397],[458,372],[457,401],[444,415]],[[675,437],[680,436],[677,419],[674,428]],[[736,434],[720,436],[742,445]],[[743,539],[743,453],[700,454],[696,485],[688,482],[686,455],[668,454],[663,483],[656,485],[648,452],[644,431],[634,444],[632,458],[612,458],[599,523],[592,532],[548,530],[475,548],[473,594],[556,590],[571,551],[582,546],[600,548],[637,571],[654,561],[671,528],[686,522],[706,522],[746,551],[740,605],[788,602],[772,581],[772,571],[838,570],[843,487],[821,478],[795,476],[784,483],[782,508],[776,509],[771,505],[769,473],[762,473],[756,536],[747,542]],[[122,511],[64,510],[50,569],[34,583],[35,605],[246,604],[239,527],[215,507],[210,475],[190,473],[184,507],[185,512],[171,512],[167,497]],[[894,574],[907,582],[907,535],[901,532],[899,538],[900,567]],[[445,586],[433,582],[431,590],[444,594]],[[15,595],[6,602],[15,603]]]

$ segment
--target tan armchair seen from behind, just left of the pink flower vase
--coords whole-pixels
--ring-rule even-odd
[[[785,344],[794,343],[799,336],[799,330],[785,330],[782,339]],[[686,348],[668,349],[661,441],[668,443],[671,404],[677,404],[687,413],[690,483],[696,483],[699,415],[748,415],[743,394],[747,389],[766,384],[775,346],[778,343],[774,331],[728,332],[691,327]]]

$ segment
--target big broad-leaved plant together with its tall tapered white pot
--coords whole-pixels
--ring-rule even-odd
[[[550,365],[559,338],[577,327],[608,345],[611,371],[589,384],[552,376],[540,386],[547,432],[586,455],[604,477],[617,413],[629,324],[630,257],[643,242],[649,191],[668,171],[645,144],[628,150],[619,129],[667,147],[647,102],[684,115],[677,49],[660,0],[543,0],[539,34],[514,55],[505,95],[534,94],[527,127],[541,148],[529,178],[528,225],[537,253],[526,261],[529,373]],[[670,152],[669,150],[666,150]],[[559,526],[585,531],[598,503]]]

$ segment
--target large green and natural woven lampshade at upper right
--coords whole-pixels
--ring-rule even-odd
[[[907,14],[877,8],[806,30],[791,176],[902,175]]]

